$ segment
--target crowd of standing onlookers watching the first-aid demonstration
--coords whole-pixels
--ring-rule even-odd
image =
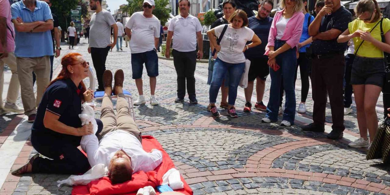
[[[5,34],[0,33],[6,37],[5,40],[1,37],[0,68],[3,69],[5,63],[12,71],[7,102],[1,107],[0,114],[23,112],[24,109],[28,121],[33,122],[36,107],[51,80],[53,57],[60,55],[57,16],[50,11],[50,0],[23,0],[12,6],[7,0],[0,2],[0,27],[7,27]],[[271,0],[263,0],[257,14],[248,18],[244,11],[236,10],[233,0],[223,2],[224,16],[207,31],[211,47],[207,110],[213,117],[220,116],[216,97],[221,88],[220,107],[227,109],[228,116],[238,117],[235,101],[237,88],[241,85],[245,86],[243,111],[251,112],[256,80],[257,96],[253,107],[266,111],[261,121],[277,122],[278,115],[283,115],[281,125],[291,126],[296,112],[307,112],[311,80],[313,123],[304,126],[303,131],[324,132],[329,96],[333,124],[327,137],[342,138],[344,115],[352,112],[354,93],[361,138],[349,145],[368,147],[367,130],[373,138],[378,128],[376,103],[385,86],[383,52],[390,53],[390,20],[381,16],[376,0],[360,0],[355,8],[356,17],[341,6],[340,0],[318,0],[314,10],[316,17],[309,13],[307,4],[307,0],[281,0],[281,10],[271,18],[269,14],[275,5]],[[188,0],[179,0],[180,14],[170,21],[165,57],[170,58],[172,46],[177,73],[175,102],[184,102],[187,90],[190,103],[196,104],[194,73],[197,58],[203,57],[203,28],[198,18],[189,14],[190,6]],[[160,21],[152,14],[154,0],[144,0],[144,11],[132,14],[125,26],[120,19],[115,23],[110,12],[102,9],[101,0],[90,0],[90,8],[96,12],[91,16],[86,37],[89,38],[88,52],[98,81],[96,90],[104,90],[102,76],[108,51],[115,45],[117,51],[122,50],[122,40],[125,39],[126,47],[129,41],[131,49],[132,78],[139,95],[134,105],[146,103],[142,80],[144,64],[149,76],[150,103],[158,105],[154,95],[159,74],[156,51],[160,50],[164,34]],[[67,34],[70,49],[77,36],[73,22]],[[298,67],[301,99],[297,108],[295,83]],[[271,87],[268,105],[265,105],[263,96],[268,75]],[[37,80],[36,98],[33,78],[34,82],[35,78]],[[246,79],[247,82],[243,83],[242,80]],[[4,82],[3,76],[0,82]],[[23,109],[15,104],[19,85]],[[384,107],[388,108],[385,97]]]

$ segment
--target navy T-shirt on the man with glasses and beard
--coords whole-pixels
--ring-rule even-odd
[[[260,38],[261,44],[255,46],[253,48],[249,48],[245,51],[246,58],[268,58],[268,56],[264,55],[266,52],[266,46],[268,44],[268,35],[269,29],[271,28],[273,18],[267,17],[262,20],[256,18],[256,16],[252,16],[248,18],[248,28],[252,29],[255,34]],[[248,41],[246,44],[250,44],[252,41]]]

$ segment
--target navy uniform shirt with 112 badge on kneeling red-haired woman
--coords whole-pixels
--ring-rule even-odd
[[[43,118],[46,110],[60,118],[58,121],[74,128],[80,128],[81,120],[78,115],[82,111],[82,102],[78,93],[81,85],[76,87],[71,79],[58,80],[50,85],[43,94],[41,103],[39,103],[37,116],[32,125],[32,133],[39,137],[61,137],[80,145],[81,137],[57,133],[51,129],[45,128]]]

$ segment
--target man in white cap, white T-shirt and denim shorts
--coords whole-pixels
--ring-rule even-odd
[[[156,97],[154,97],[154,90],[156,89],[156,76],[158,76],[156,48],[160,37],[160,21],[152,14],[154,0],[144,0],[143,7],[144,11],[131,15],[125,30],[130,39],[131,69],[139,94],[139,99],[134,102],[134,105],[146,103],[142,89],[144,63],[150,82],[150,103],[158,105]]]

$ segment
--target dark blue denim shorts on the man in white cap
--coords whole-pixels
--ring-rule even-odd
[[[147,76],[158,76],[158,58],[156,50],[153,49],[151,51],[131,54],[131,70],[133,71],[133,79],[142,78],[144,63]]]

